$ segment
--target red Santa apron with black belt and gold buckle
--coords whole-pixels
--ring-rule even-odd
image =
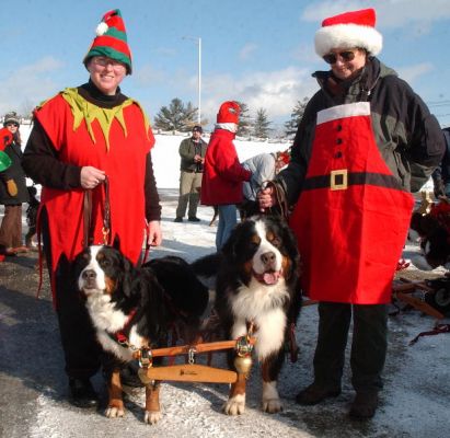
[[[319,301],[390,302],[413,206],[377,147],[370,104],[319,112],[304,185],[290,218],[305,293]]]

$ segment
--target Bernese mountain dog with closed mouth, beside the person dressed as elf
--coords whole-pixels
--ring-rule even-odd
[[[174,324],[188,327],[185,333],[196,333],[208,303],[208,289],[183,258],[166,256],[136,268],[112,246],[86,247],[77,256],[74,269],[105,351],[103,369],[108,385],[105,415],[122,417],[125,410],[120,369],[142,348],[166,347]],[[153,365],[161,364],[158,359],[153,358]],[[159,391],[159,381],[146,384],[148,424],[161,418]]]

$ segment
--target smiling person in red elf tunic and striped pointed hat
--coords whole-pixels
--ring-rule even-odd
[[[34,111],[23,165],[43,186],[38,228],[58,315],[69,401],[91,407],[99,399],[90,378],[101,367],[102,350],[71,262],[84,246],[107,243],[118,245],[137,264],[145,229],[148,244],[159,245],[162,235],[151,160],[154,137],[141,105],[119,88],[131,74],[119,10],[103,16],[83,65],[86,83],[65,89]],[[111,223],[104,230],[107,206]]]

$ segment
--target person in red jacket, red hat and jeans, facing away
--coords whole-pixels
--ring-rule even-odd
[[[216,247],[219,251],[236,224],[236,204],[242,203],[242,184],[250,181],[252,172],[238,159],[233,139],[238,130],[240,107],[235,102],[224,102],[217,114],[216,129],[205,157],[201,180],[201,204],[219,207]]]

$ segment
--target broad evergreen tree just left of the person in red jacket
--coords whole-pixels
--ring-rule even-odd
[[[162,130],[187,132],[196,124],[197,108],[191,102],[185,105],[181,99],[172,99],[169,107],[162,106],[154,116],[154,127]]]

